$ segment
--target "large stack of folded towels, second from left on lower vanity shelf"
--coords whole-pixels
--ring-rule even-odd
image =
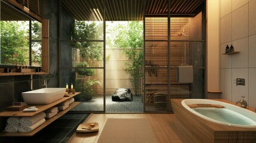
[[[41,112],[31,117],[21,117],[20,126],[18,126],[19,132],[32,132],[38,126],[45,122],[45,113]]]

